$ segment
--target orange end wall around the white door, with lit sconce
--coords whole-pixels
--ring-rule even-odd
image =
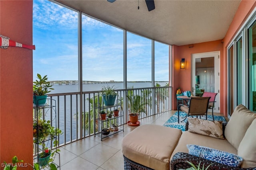
[[[173,45],[173,67],[172,67],[172,90],[173,90],[173,100],[172,106],[173,109],[177,109],[177,100],[176,100],[176,90],[178,87],[182,91],[191,89],[191,61],[192,54],[195,53],[206,53],[211,51],[220,51],[220,56],[223,52],[222,40],[210,41],[205,43],[194,44],[192,48],[189,48],[190,45],[176,46]],[[180,69],[180,60],[185,59],[185,69]],[[221,70],[220,70],[221,71]],[[220,83],[221,80],[220,80]],[[220,101],[221,102],[221,101]]]

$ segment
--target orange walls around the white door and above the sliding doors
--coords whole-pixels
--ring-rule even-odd
[[[240,27],[244,24],[250,13],[256,7],[256,1],[254,0],[242,0],[238,7],[238,10],[230,24],[230,27],[223,40],[211,41],[205,43],[194,44],[193,48],[189,48],[189,45],[176,46],[172,48],[172,86],[173,86],[173,109],[176,107],[176,89],[181,87],[185,90],[191,90],[191,54],[204,53],[210,51],[220,51],[220,113],[228,115],[227,113],[227,46],[232,41]],[[223,43],[221,43],[223,42]],[[180,60],[185,58],[186,69],[180,69]],[[189,83],[188,83],[189,82]]]

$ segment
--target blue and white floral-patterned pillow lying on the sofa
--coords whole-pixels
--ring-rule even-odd
[[[187,145],[187,148],[189,154],[228,166],[233,166],[234,168],[238,168],[243,161],[241,156],[224,152],[222,150],[216,150],[198,145]]]

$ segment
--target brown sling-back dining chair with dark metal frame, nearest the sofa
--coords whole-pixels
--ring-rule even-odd
[[[184,121],[188,116],[201,116],[206,115],[207,120],[207,111],[210,97],[192,97],[190,99],[189,106],[179,104],[178,106],[178,123],[180,123],[180,110],[187,113],[182,121]],[[183,117],[182,117],[183,118]],[[181,121],[181,122],[182,122]]]

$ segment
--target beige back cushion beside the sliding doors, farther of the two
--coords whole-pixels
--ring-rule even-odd
[[[238,149],[245,132],[255,118],[256,114],[242,104],[235,108],[225,129],[225,137],[233,147]]]

